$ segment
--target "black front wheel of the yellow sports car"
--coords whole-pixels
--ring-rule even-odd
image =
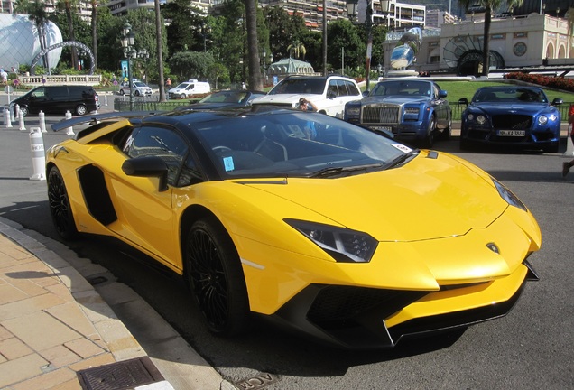
[[[239,255],[216,218],[199,219],[183,243],[187,281],[208,329],[218,336],[245,331],[249,301]]]

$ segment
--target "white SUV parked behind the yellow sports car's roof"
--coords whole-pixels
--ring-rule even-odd
[[[253,105],[296,108],[300,98],[310,100],[320,113],[342,118],[345,104],[363,95],[356,81],[345,76],[288,76]]]

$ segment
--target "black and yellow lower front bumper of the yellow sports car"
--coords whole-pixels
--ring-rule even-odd
[[[272,318],[339,348],[393,348],[402,339],[503,317],[531,280],[538,276],[524,261],[505,278],[438,292],[311,284]]]

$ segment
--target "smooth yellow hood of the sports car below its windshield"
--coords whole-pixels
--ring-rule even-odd
[[[418,241],[486,228],[508,207],[487,174],[468,166],[440,153],[436,159],[421,155],[403,167],[383,172],[249,185],[312,210],[334,224],[367,232],[378,241]]]

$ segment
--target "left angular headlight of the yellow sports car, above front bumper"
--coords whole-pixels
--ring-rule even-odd
[[[366,233],[298,219],[285,219],[339,263],[368,263],[377,241]]]

